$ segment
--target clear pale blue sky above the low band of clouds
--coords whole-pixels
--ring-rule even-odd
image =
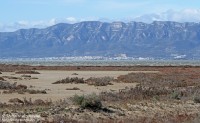
[[[200,0],[1,0],[0,22],[52,18],[132,18],[169,9],[198,9]]]

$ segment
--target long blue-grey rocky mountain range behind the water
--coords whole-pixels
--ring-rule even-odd
[[[0,58],[119,54],[199,59],[200,23],[85,21],[0,32]]]

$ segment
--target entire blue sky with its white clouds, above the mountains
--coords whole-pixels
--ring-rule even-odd
[[[200,21],[200,0],[0,0],[0,31],[80,21]]]

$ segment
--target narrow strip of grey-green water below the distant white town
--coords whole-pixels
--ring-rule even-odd
[[[60,59],[0,59],[0,64],[33,66],[200,66],[199,60],[60,60]]]

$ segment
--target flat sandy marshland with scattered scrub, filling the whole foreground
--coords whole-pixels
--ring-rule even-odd
[[[0,65],[0,112],[40,122],[200,122],[200,67]]]

